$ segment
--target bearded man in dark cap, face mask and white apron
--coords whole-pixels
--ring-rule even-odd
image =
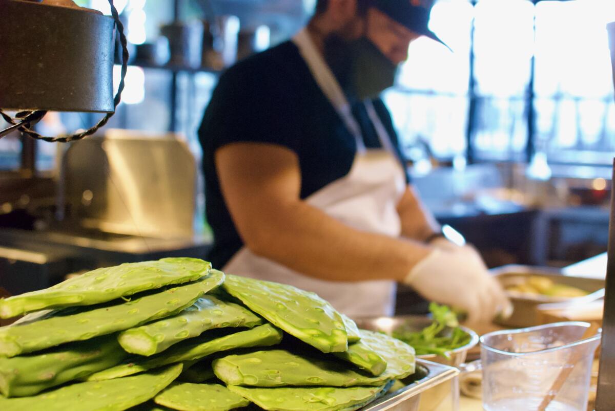
[[[216,267],[317,292],[354,317],[392,315],[396,281],[470,321],[509,310],[477,252],[438,236],[379,97],[411,41],[438,40],[430,10],[319,0],[292,41],[221,76],[199,130]]]

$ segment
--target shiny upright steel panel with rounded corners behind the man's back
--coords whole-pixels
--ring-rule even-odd
[[[71,144],[62,164],[67,224],[137,237],[194,234],[197,165],[177,135],[108,130]]]

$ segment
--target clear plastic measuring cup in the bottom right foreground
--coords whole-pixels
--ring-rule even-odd
[[[547,411],[585,411],[600,334],[581,340],[589,323],[547,324],[481,337],[485,411],[535,411],[567,367],[574,367]]]

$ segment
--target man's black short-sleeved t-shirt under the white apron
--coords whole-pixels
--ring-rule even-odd
[[[398,147],[391,116],[382,100],[374,107]],[[365,106],[352,107],[368,148],[381,147]],[[320,90],[293,42],[240,61],[224,72],[199,128],[203,148],[205,207],[214,245],[208,256],[223,267],[243,246],[221,194],[215,151],[229,143],[279,144],[298,155],[301,198],[343,178],[355,157],[354,136]],[[397,155],[402,154],[397,149]]]

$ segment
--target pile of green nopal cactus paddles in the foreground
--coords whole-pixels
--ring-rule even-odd
[[[199,259],[0,299],[21,315],[0,327],[2,411],[357,410],[415,371],[411,346],[316,294]]]

